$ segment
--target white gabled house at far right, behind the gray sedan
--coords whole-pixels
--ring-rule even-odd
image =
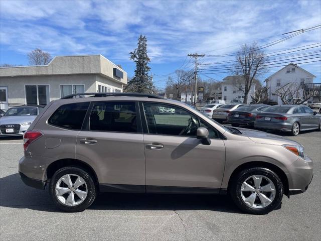
[[[266,86],[268,87],[268,98],[271,101],[277,102],[277,104],[282,104],[282,101],[275,92],[289,83],[294,83],[296,85],[313,84],[313,78],[316,76],[309,73],[305,69],[302,69],[297,64],[289,63],[279,71],[270,75],[266,80]],[[302,96],[295,96],[296,98],[301,98]]]

